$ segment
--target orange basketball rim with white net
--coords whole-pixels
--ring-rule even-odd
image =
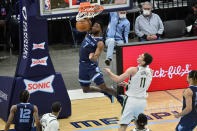
[[[84,18],[93,18],[99,15],[103,10],[101,5],[91,5],[90,2],[80,3],[79,13],[76,16],[76,21],[79,21]]]

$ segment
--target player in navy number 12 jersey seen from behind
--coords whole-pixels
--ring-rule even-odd
[[[16,131],[31,131],[33,126],[33,118],[36,123],[37,131],[41,131],[41,125],[38,117],[38,108],[35,105],[28,103],[29,92],[23,90],[20,92],[19,104],[13,105],[10,109],[10,115],[5,125],[5,131],[8,131],[13,118],[15,117],[15,130]]]

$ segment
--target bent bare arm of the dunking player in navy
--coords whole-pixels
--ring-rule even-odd
[[[104,49],[104,43],[103,43],[103,41],[99,41],[95,53],[90,53],[89,59],[91,61],[97,61],[97,59],[101,55],[103,49]]]

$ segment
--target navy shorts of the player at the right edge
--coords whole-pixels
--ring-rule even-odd
[[[176,127],[176,131],[193,131],[197,126],[197,119],[194,116],[183,116]]]

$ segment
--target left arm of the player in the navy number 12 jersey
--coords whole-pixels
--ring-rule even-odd
[[[8,131],[10,129],[10,125],[12,123],[12,120],[14,119],[14,114],[15,114],[16,110],[17,110],[17,106],[13,105],[11,107],[11,109],[10,109],[10,115],[8,117],[8,121],[7,121],[6,125],[5,125],[4,131]]]

